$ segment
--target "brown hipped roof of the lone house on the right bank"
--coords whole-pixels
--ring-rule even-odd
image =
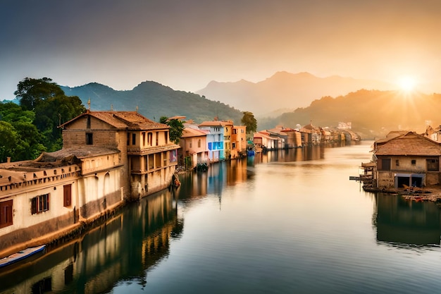
[[[375,155],[440,156],[441,147],[428,137],[408,132],[377,145]]]

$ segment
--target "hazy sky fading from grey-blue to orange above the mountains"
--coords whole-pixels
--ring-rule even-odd
[[[276,71],[441,92],[441,1],[0,0],[0,100],[25,77],[196,92]]]

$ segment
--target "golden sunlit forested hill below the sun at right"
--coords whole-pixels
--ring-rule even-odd
[[[259,119],[258,128],[282,124],[294,128],[312,121],[316,126],[336,127],[351,122],[364,139],[384,137],[390,130],[424,132],[426,125],[441,124],[441,94],[399,91],[359,90],[340,97],[323,97],[306,108],[282,114],[275,119]]]

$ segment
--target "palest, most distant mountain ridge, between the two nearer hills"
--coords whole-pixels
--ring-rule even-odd
[[[311,73],[279,71],[261,82],[211,81],[197,94],[221,101],[257,116],[276,116],[306,107],[323,96],[339,96],[357,90],[392,90],[393,85],[378,80],[360,80],[333,75],[318,78]]]

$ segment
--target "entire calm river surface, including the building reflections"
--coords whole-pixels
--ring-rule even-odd
[[[440,293],[440,209],[349,180],[372,142],[215,164],[0,273],[0,293]]]

